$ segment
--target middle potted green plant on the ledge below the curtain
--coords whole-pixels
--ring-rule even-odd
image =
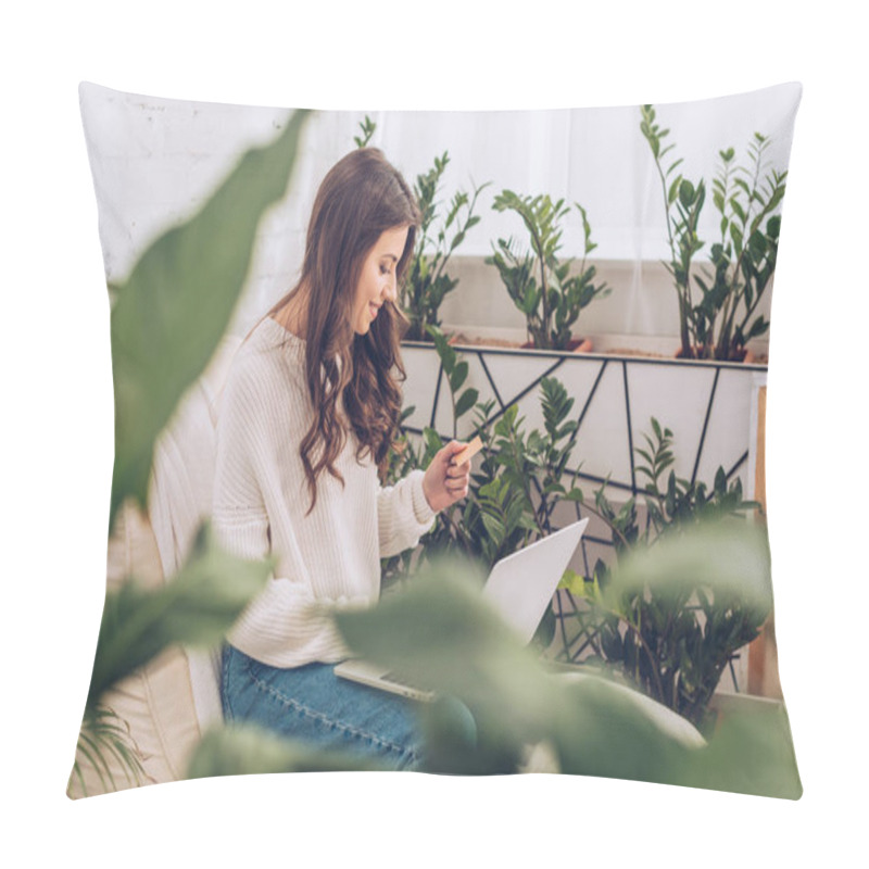
[[[574,276],[569,276],[571,261],[559,262],[556,256],[562,240],[559,222],[570,211],[563,199],[553,203],[549,196],[519,197],[504,190],[492,206],[495,211],[516,212],[530,236],[530,252],[519,254],[512,238],[499,239],[486,262],[498,268],[509,298],[525,314],[529,339],[539,349],[567,349],[570,329],[580,312],[610,292],[605,282],[593,282],[596,268],[587,266],[585,257],[597,245],[591,240],[585,210],[574,204],[582,217],[585,238],[580,270]]]

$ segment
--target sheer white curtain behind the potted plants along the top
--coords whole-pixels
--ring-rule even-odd
[[[748,95],[655,106],[665,144],[675,148],[665,163],[683,158],[687,178],[705,178],[710,188],[718,152],[732,147],[747,160],[746,146],[758,131],[771,138],[770,167],[788,165],[798,86]],[[667,256],[664,202],[648,143],[640,131],[640,108],[566,109],[516,112],[394,112],[378,115],[375,143],[408,176],[450,153],[444,198],[463,187],[491,181],[480,198],[480,225],[462,247],[467,255],[488,255],[498,237],[520,235],[516,215],[491,212],[502,189],[547,193],[585,207],[602,260],[659,260]],[[718,218],[708,189],[701,238],[718,237]],[[564,252],[581,255],[582,224],[571,211],[565,223]]]

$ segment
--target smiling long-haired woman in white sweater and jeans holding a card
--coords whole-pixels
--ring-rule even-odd
[[[452,442],[428,469],[381,488],[401,410],[396,290],[419,212],[376,149],[323,180],[301,277],[238,351],[217,425],[214,526],[274,577],[224,650],[227,720],[395,768],[419,761],[412,703],[338,679],[347,651],[318,605],[369,606],[380,557],[414,546],[436,513],[467,494]]]

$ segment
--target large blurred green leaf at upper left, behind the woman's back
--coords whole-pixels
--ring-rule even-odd
[[[307,116],[248,151],[198,214],[161,236],[117,288],[112,308],[115,465],[111,518],[146,503],[154,441],[226,331],[256,227],[285,193]]]

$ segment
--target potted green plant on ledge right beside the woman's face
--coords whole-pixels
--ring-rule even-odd
[[[458,284],[457,278],[446,273],[446,264],[465,240],[468,230],[480,222],[474,214],[474,207],[480,192],[489,186],[488,182],[474,186],[470,194],[464,190],[456,192],[436,230],[440,204],[437,196],[449,162],[450,156],[444,151],[442,156],[434,158],[434,165],[427,173],[417,176],[414,184],[414,194],[423,219],[407,280],[399,293],[399,303],[410,320],[405,335],[410,341],[427,341],[428,328],[440,327],[438,312],[441,303]]]

